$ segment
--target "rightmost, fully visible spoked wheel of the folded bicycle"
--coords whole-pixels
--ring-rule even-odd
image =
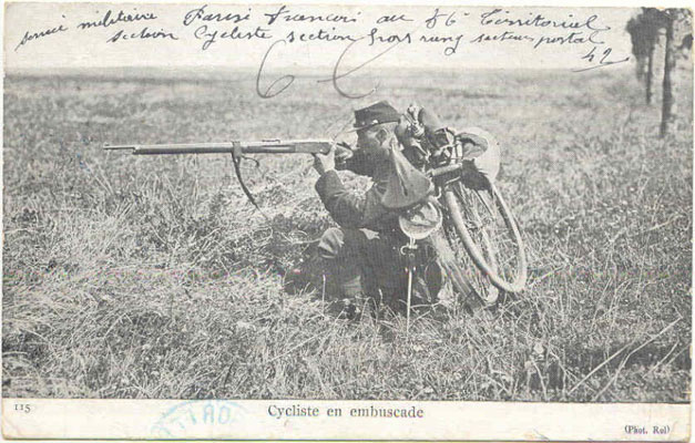
[[[527,284],[523,240],[507,202],[493,184],[470,189],[461,182],[443,189],[449,217],[470,259],[497,288],[520,292]],[[494,293],[487,296],[488,302]]]

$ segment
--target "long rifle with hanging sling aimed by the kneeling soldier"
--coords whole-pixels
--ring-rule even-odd
[[[104,145],[104,150],[131,151],[133,155],[232,154],[234,172],[239,181],[242,190],[244,190],[244,194],[256,209],[260,210],[242,178],[239,164],[244,158],[244,154],[327,154],[334,144],[335,142],[330,140],[263,140],[260,142]],[[349,150],[349,146],[340,144],[340,148]]]

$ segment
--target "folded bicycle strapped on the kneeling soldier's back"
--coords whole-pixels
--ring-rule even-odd
[[[454,288],[468,293],[472,286],[487,305],[497,302],[500,291],[521,292],[528,276],[521,231],[494,182],[478,171],[476,157],[463,147],[481,143],[480,137],[446,128],[431,141],[415,112],[409,109],[408,114],[409,135],[418,142],[405,141],[411,147],[408,159],[432,181],[436,198],[446,208],[439,229],[449,250],[440,259]],[[468,271],[471,264],[478,275]]]

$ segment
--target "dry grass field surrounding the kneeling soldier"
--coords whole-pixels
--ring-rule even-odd
[[[3,395],[688,401],[693,91],[679,76],[666,140],[631,70],[411,72],[360,102],[310,79],[262,101],[252,75],[8,76]],[[420,318],[409,337],[399,316],[336,319],[282,286],[331,226],[310,157],[245,168],[268,222],[228,157],[100,148],[325,137],[380,99],[498,136],[530,255],[518,300]]]

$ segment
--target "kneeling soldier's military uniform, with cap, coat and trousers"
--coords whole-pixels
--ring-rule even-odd
[[[388,103],[380,102],[356,111],[356,126],[398,122],[399,114]],[[407,274],[400,247],[408,241],[398,226],[398,213],[382,204],[390,174],[390,152],[387,148],[362,148],[356,152],[345,168],[371,177],[374,184],[364,195],[346,189],[335,171],[323,174],[316,183],[324,206],[339,225],[321,236],[318,254],[327,264],[326,272],[347,299],[384,297],[391,307],[405,301]],[[415,286],[416,305],[432,302],[431,293],[441,287],[441,270],[428,251],[421,250],[420,267],[438,286],[420,279]],[[435,266],[428,266],[435,265]]]

